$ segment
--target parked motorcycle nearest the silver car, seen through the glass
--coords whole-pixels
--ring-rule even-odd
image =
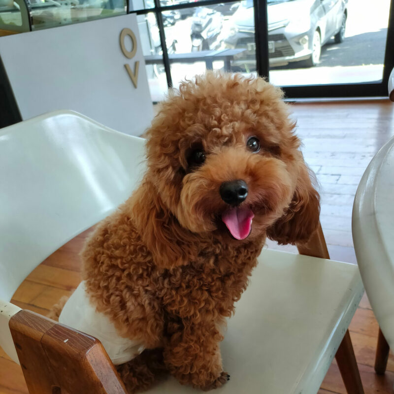
[[[222,45],[223,15],[211,8],[201,7],[193,15],[192,52],[218,49]]]

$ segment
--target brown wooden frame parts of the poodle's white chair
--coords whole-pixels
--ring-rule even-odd
[[[297,248],[302,255],[329,259],[320,224]],[[9,327],[30,394],[127,394],[96,338],[28,310],[14,315]],[[348,330],[335,358],[348,394],[363,394]]]

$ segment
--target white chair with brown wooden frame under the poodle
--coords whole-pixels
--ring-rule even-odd
[[[89,358],[87,346],[78,357],[90,362],[89,376],[78,372],[77,358],[69,360],[82,333],[26,315],[8,301],[37,264],[131,194],[142,159],[143,140],[69,111],[0,130],[0,346],[18,361],[14,340],[31,393],[54,393],[53,387],[70,394],[124,393],[94,338],[84,341],[91,341],[101,367],[106,363],[101,371],[110,379],[104,383],[97,381],[97,358]],[[328,258],[321,229],[299,250]],[[362,294],[356,265],[264,250],[221,344],[231,380],[219,391],[316,394],[336,354],[348,393],[363,393],[347,331]],[[42,353],[49,361],[40,359]],[[74,375],[67,380],[67,374]],[[44,381],[37,383],[37,376]],[[89,378],[96,379],[93,385]],[[78,389],[70,386],[79,379]],[[196,390],[170,378],[149,393]]]

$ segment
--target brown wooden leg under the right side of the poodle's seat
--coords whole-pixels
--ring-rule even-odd
[[[348,394],[364,394],[349,330],[346,330],[346,334],[336,352],[335,359]]]

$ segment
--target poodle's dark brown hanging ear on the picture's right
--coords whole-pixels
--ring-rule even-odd
[[[313,173],[311,175],[315,178]],[[318,227],[319,216],[320,196],[312,185],[308,167],[302,161],[292,202],[284,215],[268,228],[267,236],[280,245],[307,242]]]

